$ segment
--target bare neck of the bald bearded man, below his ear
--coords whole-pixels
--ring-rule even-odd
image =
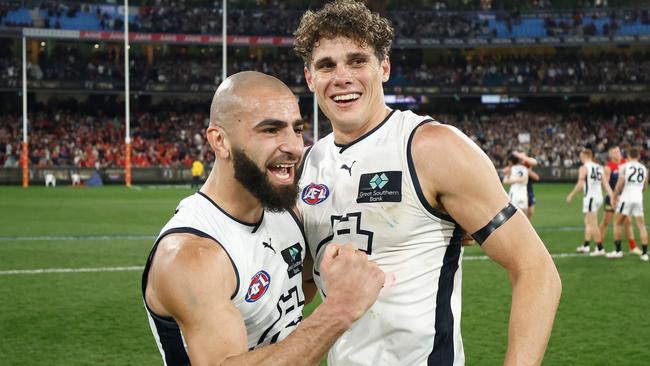
[[[230,216],[246,223],[257,223],[262,218],[262,204],[235,179],[229,166],[215,163],[201,192],[210,197]]]

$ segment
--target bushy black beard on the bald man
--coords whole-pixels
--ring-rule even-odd
[[[260,170],[255,162],[241,149],[232,151],[235,168],[235,179],[246,188],[253,197],[257,198],[264,209],[271,212],[281,212],[291,209],[298,198],[298,176],[294,175],[293,184],[275,187]]]

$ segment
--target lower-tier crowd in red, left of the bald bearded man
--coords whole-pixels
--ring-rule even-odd
[[[124,166],[122,118],[66,113],[30,116],[29,160],[36,167]],[[210,164],[214,154],[203,134],[207,116],[197,113],[139,113],[132,117],[132,164],[136,167],[185,167],[195,158]],[[16,167],[22,120],[0,117],[0,166]]]

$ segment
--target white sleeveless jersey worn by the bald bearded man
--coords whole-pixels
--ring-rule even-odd
[[[162,229],[144,273],[147,274],[160,240],[169,234],[189,233],[214,240],[230,257],[237,276],[233,305],[248,335],[248,347],[284,339],[302,320],[302,262],[305,241],[293,214],[265,211],[257,224],[241,222],[223,211],[202,192],[181,201]],[[173,318],[156,315],[146,304],[149,324],[165,365],[189,364],[183,335]]]

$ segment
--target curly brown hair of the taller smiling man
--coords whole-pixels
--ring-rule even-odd
[[[316,12],[307,10],[294,33],[293,50],[305,65],[312,61],[312,52],[322,38],[350,38],[361,46],[371,46],[381,61],[393,43],[390,21],[370,10],[360,1],[336,0]]]

